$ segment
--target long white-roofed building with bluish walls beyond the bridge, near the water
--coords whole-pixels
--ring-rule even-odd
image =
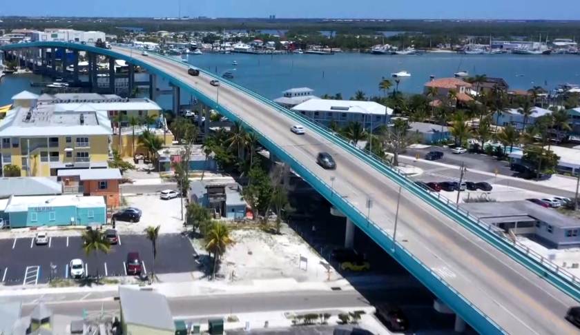
[[[386,125],[393,110],[374,101],[310,99],[291,108],[296,114],[328,126],[330,121],[345,127],[349,122],[360,122],[365,129]]]

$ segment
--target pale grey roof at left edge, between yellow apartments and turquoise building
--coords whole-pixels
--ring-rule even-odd
[[[62,185],[48,177],[0,178],[0,198],[62,194]]]

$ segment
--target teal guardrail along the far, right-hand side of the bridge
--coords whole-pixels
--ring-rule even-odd
[[[164,57],[171,61],[175,61],[175,63],[180,63],[182,66],[190,65],[189,63],[182,63],[162,54],[155,54],[157,57]],[[379,172],[389,176],[389,178],[398,183],[398,185],[405,187],[406,190],[412,192],[423,201],[429,203],[429,205],[432,205],[440,212],[443,212],[443,214],[449,216],[451,219],[454,219],[454,221],[463,225],[463,227],[467,228],[467,230],[470,230],[474,234],[480,236],[485,241],[487,241],[487,243],[494,245],[494,247],[497,247],[499,250],[505,252],[508,254],[508,256],[514,258],[519,263],[528,267],[528,269],[531,271],[540,276],[543,276],[545,280],[552,283],[552,285],[559,287],[560,290],[566,292],[566,294],[569,294],[577,301],[580,301],[580,278],[570,274],[570,272],[559,267],[559,265],[553,263],[548,258],[545,258],[541,254],[534,252],[534,250],[531,250],[529,247],[519,243],[518,241],[512,241],[508,238],[505,238],[504,236],[497,234],[496,230],[492,228],[492,225],[483,223],[476,216],[472,216],[469,212],[461,209],[461,207],[458,205],[454,205],[453,201],[445,198],[445,196],[441,196],[441,194],[437,192],[432,192],[431,190],[419,187],[412,179],[409,178],[409,176],[401,172],[398,168],[385,164],[383,159],[380,159],[380,157],[376,156],[372,152],[369,152],[368,150],[365,150],[364,148],[360,148],[349,143],[349,140],[344,136],[336,132],[332,132],[324,125],[320,125],[320,123],[316,123],[300,114],[296,114],[291,110],[288,110],[287,108],[284,108],[281,105],[274,103],[273,101],[269,101],[268,99],[261,97],[259,94],[256,94],[247,88],[243,88],[236,83],[219,77],[216,74],[201,68],[199,68],[199,70],[209,77],[219,79],[231,87],[248,94],[249,96],[273,108],[274,110],[282,112],[283,114],[289,116],[291,119],[315,130],[318,134],[324,136],[326,139],[339,145],[341,148],[347,150],[348,152],[351,152],[351,154],[358,156],[358,158],[365,161],[365,163],[368,163]],[[220,109],[220,106],[218,106],[218,109]],[[442,205],[445,207],[442,207]],[[518,254],[514,254],[514,252],[517,252]],[[525,258],[528,258],[529,261],[527,261]],[[532,264],[530,261],[537,264]]]

